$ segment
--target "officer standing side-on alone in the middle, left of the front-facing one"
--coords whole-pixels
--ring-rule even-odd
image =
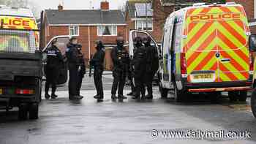
[[[97,52],[94,54],[93,58],[90,61],[90,67],[94,67],[94,85],[97,90],[97,95],[94,96],[94,99],[103,100],[103,86],[102,86],[102,73],[104,70],[104,60],[105,60],[105,48],[102,41],[97,40],[95,46]]]

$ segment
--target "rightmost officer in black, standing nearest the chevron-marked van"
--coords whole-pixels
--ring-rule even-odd
[[[143,44],[146,47],[146,75],[145,83],[148,91],[146,99],[153,99],[152,82],[159,67],[157,48],[151,46],[151,37],[145,37]]]

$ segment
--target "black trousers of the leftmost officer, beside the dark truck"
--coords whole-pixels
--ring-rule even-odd
[[[50,85],[52,88],[52,94],[55,94],[56,84],[59,78],[59,69],[56,67],[45,67],[46,82],[45,82],[45,94],[48,94]]]

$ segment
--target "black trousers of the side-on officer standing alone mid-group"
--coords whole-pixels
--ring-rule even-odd
[[[94,68],[94,85],[97,90],[97,95],[102,96],[104,95],[103,93],[103,86],[102,86],[102,73],[103,69],[102,68]]]

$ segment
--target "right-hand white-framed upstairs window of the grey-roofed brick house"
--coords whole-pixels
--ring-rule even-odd
[[[116,36],[117,26],[98,26],[98,36]]]

